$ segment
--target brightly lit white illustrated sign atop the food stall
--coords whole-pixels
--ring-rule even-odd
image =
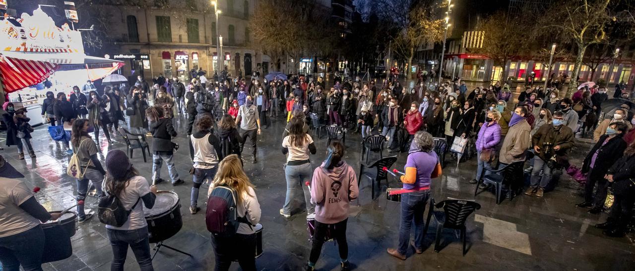
[[[57,27],[42,9],[33,15],[22,13],[19,19],[0,22],[0,51],[38,53],[84,53],[81,34],[68,23]]]

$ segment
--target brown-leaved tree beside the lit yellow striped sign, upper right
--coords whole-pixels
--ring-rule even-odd
[[[494,65],[502,66],[504,72],[501,77],[508,74],[507,61],[528,53],[532,46],[531,39],[519,38],[523,37],[530,27],[530,24],[525,22],[527,21],[523,18],[512,18],[508,13],[499,11],[479,22],[476,27],[483,31],[483,47],[475,51],[487,54]]]

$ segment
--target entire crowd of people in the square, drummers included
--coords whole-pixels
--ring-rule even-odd
[[[194,73],[192,73],[194,75]],[[162,77],[162,76],[161,76]],[[73,88],[70,101],[65,94],[47,93],[42,115],[55,125],[68,123],[72,127],[70,142],[65,142],[69,154],[74,154],[84,170],[77,179],[77,216],[81,224],[91,218],[84,213],[86,193],[97,189],[97,196],[115,195],[130,215],[126,224],[107,225],[113,251],[112,270],[123,270],[128,246],[131,246],[142,270],[152,270],[149,256],[147,223],[144,209],[152,208],[156,198],[156,184],[161,179],[161,166],[168,167],[173,186],[184,184],[175,167],[173,152],[178,144],[173,139],[181,132],[189,137],[192,159],[192,190],[190,213],[201,210],[199,189],[211,182],[208,197],[218,197],[215,189],[225,187],[234,193],[237,215],[241,217],[231,234],[212,231],[211,240],[216,255],[216,269],[227,270],[232,260],[238,259],[243,270],[256,270],[255,259],[244,255],[242,249],[255,246],[255,226],[260,220],[257,189],[243,171],[243,161],[257,163],[257,137],[266,132],[272,119],[287,125],[280,142],[286,155],[284,173],[286,199],[279,213],[290,218],[291,201],[297,186],[302,187],[307,215],[315,218],[315,232],[307,270],[313,270],[321,253],[326,235],[337,240],[342,270],[349,269],[346,224],[349,202],[358,198],[358,176],[351,164],[344,161],[344,146],[338,141],[326,149],[326,159],[317,168],[311,166],[311,156],[324,152],[316,148],[314,139],[307,134],[311,125],[335,125],[341,132],[360,134],[359,139],[380,134],[387,140],[389,152],[407,153],[401,196],[401,226],[397,248],[387,249],[389,255],[406,259],[409,246],[421,253],[423,248],[423,213],[430,197],[431,179],[441,174],[441,163],[434,149],[435,138],[445,141],[451,160],[463,162],[476,158],[478,169],[471,184],[476,184],[488,170],[505,168],[517,161],[528,166],[526,195],[545,196],[558,182],[563,170],[572,167],[568,158],[577,144],[578,136],[593,130],[595,146],[582,165],[586,173],[584,202],[580,208],[589,213],[600,213],[605,204],[608,187],[612,184],[615,202],[610,218],[596,227],[607,236],[624,236],[632,218],[635,198],[635,124],[629,93],[620,89],[624,104],[610,112],[603,110],[608,99],[606,87],[582,87],[572,98],[557,85],[526,87],[513,99],[507,84],[496,82],[489,87],[476,87],[471,91],[465,82],[445,82],[429,89],[424,82],[413,88],[401,85],[398,76],[383,82],[363,82],[359,77],[336,77],[327,87],[322,77],[317,80],[291,75],[288,79],[274,78],[250,81],[236,77],[207,79],[203,75],[187,82],[177,78],[163,79],[149,87],[139,78],[130,88],[105,87],[103,94],[91,89],[90,82],[83,86],[87,93]],[[163,84],[159,84],[163,83]],[[12,103],[3,104],[7,111],[3,120],[8,123],[7,146],[17,145],[19,159],[24,159],[23,145],[35,156],[30,145],[29,119]],[[175,129],[174,118],[187,120],[185,131]],[[281,118],[282,117],[282,118]],[[603,120],[598,120],[603,117]],[[97,159],[100,127],[107,141],[112,142],[114,126],[128,122],[134,132],[152,137],[152,178],[146,180],[132,166],[126,154],[117,149],[109,151],[105,167]],[[598,124],[599,123],[599,124]],[[94,133],[91,137],[91,133]],[[247,139],[250,155],[243,154]],[[455,149],[457,142],[466,142],[464,148]],[[70,143],[70,144],[69,144]],[[450,151],[451,149],[451,151]],[[352,162],[352,161],[349,161]],[[10,167],[5,163],[4,167]],[[15,170],[13,170],[15,171]],[[0,178],[19,177],[11,170],[0,168]],[[518,193],[505,184],[510,193]],[[90,181],[90,182],[89,182]],[[309,184],[307,186],[306,184]],[[598,184],[598,188],[594,186]],[[10,186],[10,187],[9,187]],[[481,184],[486,188],[485,184]],[[2,220],[0,227],[0,260],[6,270],[38,270],[37,255],[21,255],[20,249],[8,246],[10,240],[40,234],[39,221],[55,217],[47,215],[23,182],[3,182],[0,200],[15,213],[10,221]],[[11,196],[11,195],[18,195]],[[81,204],[79,204],[81,203]],[[209,207],[208,207],[209,208]],[[0,214],[0,217],[4,217]],[[15,221],[13,221],[15,220]],[[414,222],[414,227],[411,227]],[[208,226],[208,229],[210,227]],[[414,232],[415,239],[410,241]],[[27,237],[25,237],[27,238]],[[25,242],[25,246],[27,245]],[[30,244],[29,244],[30,245]],[[253,249],[250,249],[250,251]]]

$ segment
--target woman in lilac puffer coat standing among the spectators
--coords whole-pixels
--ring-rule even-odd
[[[477,180],[481,178],[481,172],[483,172],[483,165],[490,168],[490,161],[494,154],[493,151],[496,148],[498,142],[500,142],[500,125],[498,125],[498,119],[500,118],[500,112],[498,110],[490,110],[487,112],[485,123],[481,125],[481,129],[478,131],[478,137],[476,139],[476,151],[478,155],[478,169],[476,170],[476,179],[471,180],[471,184],[476,184]],[[486,154],[489,153],[490,155]],[[481,158],[481,154],[483,158]]]

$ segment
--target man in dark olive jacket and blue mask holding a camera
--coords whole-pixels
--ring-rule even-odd
[[[545,124],[531,137],[535,160],[531,170],[531,184],[525,191],[526,195],[536,194],[542,197],[544,188],[549,184],[554,169],[562,167],[561,162],[566,160],[566,152],[573,147],[573,130],[563,125],[565,113],[554,113],[551,124]],[[542,177],[540,171],[542,170]]]

